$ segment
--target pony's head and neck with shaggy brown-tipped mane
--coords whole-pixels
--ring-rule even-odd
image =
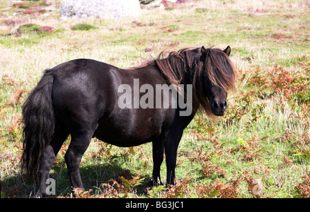
[[[163,52],[155,63],[170,84],[192,84],[193,113],[203,110],[209,117],[224,115],[227,108],[227,92],[235,88],[236,73],[229,59],[230,47],[185,48]]]

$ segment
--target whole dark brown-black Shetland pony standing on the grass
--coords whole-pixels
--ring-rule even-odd
[[[176,152],[184,128],[198,110],[209,117],[225,113],[227,91],[234,89],[236,81],[230,52],[229,46],[225,50],[187,48],[127,70],[92,59],[75,59],[45,70],[22,111],[21,165],[34,182],[40,176],[37,197],[48,196],[46,180],[68,135],[71,142],[65,162],[72,188],[84,189],[79,166],[92,137],[116,146],[152,142],[151,183],[161,184],[159,172],[165,150],[167,184],[174,184]],[[134,86],[134,79],[154,88],[156,84],[191,84],[192,113],[180,116],[180,107],[171,107],[172,95],[168,108],[120,108],[118,98],[123,93],[118,87]],[[187,91],[183,95],[186,99]]]

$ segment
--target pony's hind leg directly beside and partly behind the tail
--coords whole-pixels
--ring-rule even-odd
[[[48,197],[48,194],[46,193],[46,183],[48,178],[50,178],[50,169],[52,168],[55,157],[63,145],[63,142],[65,142],[65,139],[67,139],[68,135],[68,131],[63,128],[63,126],[56,124],[54,137],[50,144],[45,148],[41,158],[41,164],[39,168],[40,186],[36,197]]]

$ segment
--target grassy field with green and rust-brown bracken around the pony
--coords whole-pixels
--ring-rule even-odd
[[[59,20],[43,1],[8,2],[0,0],[1,197],[34,194],[19,165],[21,106],[44,69],[76,58],[128,68],[162,50],[227,45],[238,90],[225,116],[196,116],[185,129],[176,186],[147,188],[152,144],[118,148],[93,139],[81,162],[86,192],[77,197],[310,197],[309,1],[188,1],[134,19],[80,21]],[[69,143],[51,171],[59,197],[71,192]],[[163,162],[164,182],[165,172]]]

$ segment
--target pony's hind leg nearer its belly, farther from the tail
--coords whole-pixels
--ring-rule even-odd
[[[71,134],[71,142],[68,151],[65,153],[65,162],[68,166],[68,175],[72,188],[84,190],[81,180],[80,163],[85,153],[94,131],[80,130]]]

